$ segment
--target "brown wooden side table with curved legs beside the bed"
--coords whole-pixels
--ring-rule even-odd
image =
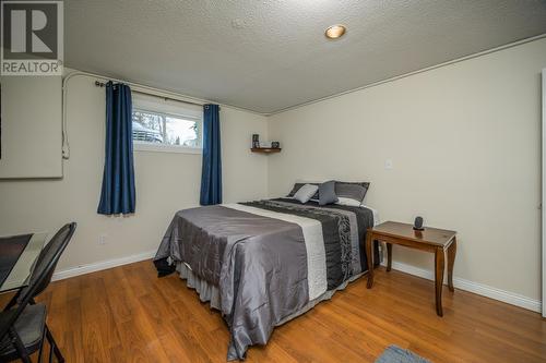
[[[435,285],[436,285],[436,313],[443,316],[442,311],[442,286],[444,253],[448,254],[448,287],[453,289],[453,264],[456,254],[456,232],[437,228],[425,228],[416,231],[412,225],[387,221],[379,226],[369,228],[366,233],[366,253],[368,256],[368,289],[373,286],[373,253],[372,242],[375,240],[387,243],[387,270],[391,270],[392,245],[400,244],[410,249],[431,252],[435,254]]]

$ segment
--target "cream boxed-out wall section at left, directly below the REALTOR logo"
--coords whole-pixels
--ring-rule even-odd
[[[0,178],[60,178],[60,76],[1,76]]]

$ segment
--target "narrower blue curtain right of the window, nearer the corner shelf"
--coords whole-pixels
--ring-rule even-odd
[[[219,106],[203,106],[203,170],[201,205],[222,203],[222,150],[219,143]]]

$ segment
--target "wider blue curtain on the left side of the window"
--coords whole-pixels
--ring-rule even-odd
[[[131,88],[106,84],[106,142],[103,190],[97,213],[134,213],[134,168]]]

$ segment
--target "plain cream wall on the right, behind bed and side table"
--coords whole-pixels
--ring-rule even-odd
[[[539,300],[544,66],[543,38],[273,116],[270,196],[296,179],[370,181],[382,220],[459,232],[456,277]]]

